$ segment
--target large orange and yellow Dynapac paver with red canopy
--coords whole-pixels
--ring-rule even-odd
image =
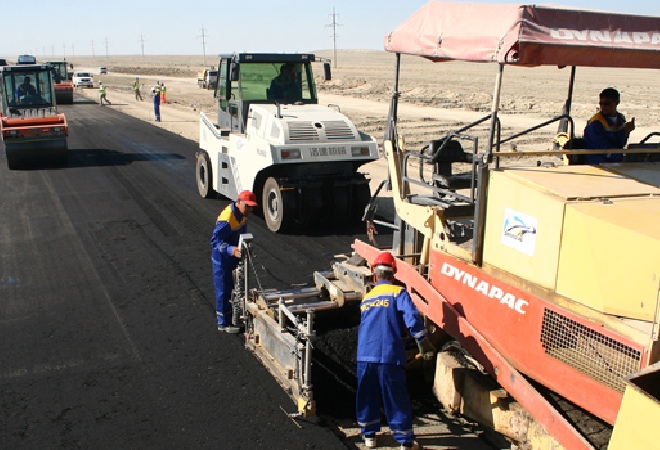
[[[438,355],[434,392],[447,409],[499,425],[525,448],[657,448],[660,131],[620,149],[621,163],[589,166],[578,156],[612,149],[583,148],[571,114],[578,68],[657,69],[654,36],[660,17],[436,1],[385,36],[396,58],[384,139],[396,213],[391,246],[356,240],[350,259],[314,273],[315,287],[286,292],[249,289],[247,263],[238,271],[246,346],[295,393],[300,414],[314,406],[307,352],[315,331],[306,327],[321,310],[359,302],[369,265],[389,250],[429,327],[464,356],[441,370],[448,352]],[[490,111],[406,148],[402,55],[492,64]],[[563,108],[508,134],[500,115],[505,68],[538,66],[567,72]],[[545,150],[505,150],[554,126]],[[563,163],[536,160],[552,155]],[[365,220],[373,223],[371,205]],[[497,385],[463,389],[468,367]],[[526,415],[501,423],[514,404]],[[532,424],[545,432],[537,441]]]

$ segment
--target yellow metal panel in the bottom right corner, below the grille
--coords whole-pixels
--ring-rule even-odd
[[[626,391],[614,424],[609,450],[657,449],[660,418],[660,365],[626,379]]]

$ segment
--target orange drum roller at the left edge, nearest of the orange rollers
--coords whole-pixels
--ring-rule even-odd
[[[49,64],[0,67],[0,134],[10,170],[68,163],[69,127],[58,113]]]

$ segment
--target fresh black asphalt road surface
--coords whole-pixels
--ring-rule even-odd
[[[209,238],[228,201],[197,194],[197,144],[82,98],[61,111],[68,166],[0,159],[0,448],[350,447],[289,419],[241,338],[218,335]],[[274,288],[361,236],[249,231]]]

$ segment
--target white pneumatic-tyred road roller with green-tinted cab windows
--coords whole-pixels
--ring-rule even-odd
[[[359,222],[371,192],[358,169],[379,157],[378,144],[338,108],[319,105],[315,60],[312,54],[220,55],[217,122],[200,114],[195,176],[202,197],[235,200],[251,190],[273,232]],[[289,99],[271,93],[284,66],[298,89]]]

